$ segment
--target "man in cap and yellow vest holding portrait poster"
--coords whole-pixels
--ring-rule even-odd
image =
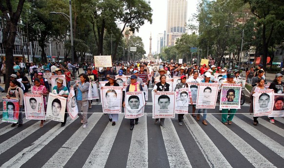
[[[137,82],[137,76],[136,75],[131,75],[130,77],[131,83],[128,85],[125,89],[125,92],[139,92],[143,91],[143,86],[141,84],[138,84]],[[125,102],[123,99],[123,104],[122,106],[125,108]],[[132,118],[130,120],[130,130],[132,131],[134,129],[134,125],[138,124],[139,118]],[[135,123],[134,123],[135,121]]]

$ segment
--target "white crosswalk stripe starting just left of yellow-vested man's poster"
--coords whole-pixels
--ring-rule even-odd
[[[118,122],[113,127],[111,122],[106,126],[102,132],[94,149],[91,151],[88,159],[86,160],[83,168],[103,168],[110,150],[112,149],[114,140],[119,131],[124,114],[119,114]]]

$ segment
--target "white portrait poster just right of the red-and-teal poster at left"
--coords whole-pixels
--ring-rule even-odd
[[[26,119],[45,120],[43,96],[41,94],[24,94]]]

